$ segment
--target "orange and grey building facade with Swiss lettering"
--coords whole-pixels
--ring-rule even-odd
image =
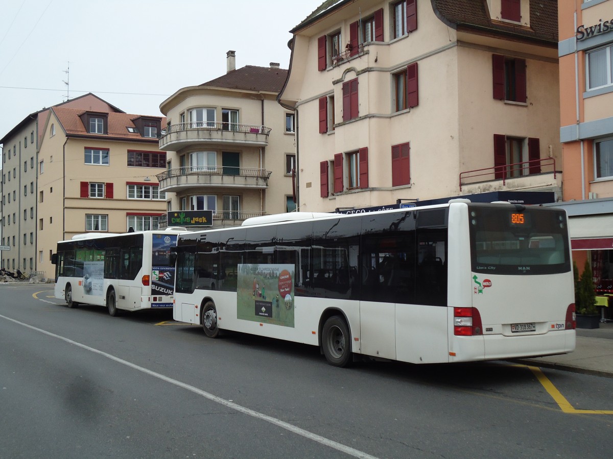
[[[613,294],[613,0],[559,4],[560,140],[573,259]],[[609,308],[611,309],[611,308]],[[609,313],[610,314],[610,313]]]

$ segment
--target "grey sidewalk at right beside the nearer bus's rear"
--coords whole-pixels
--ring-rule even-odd
[[[577,329],[577,346],[562,356],[515,360],[536,367],[557,368],[613,378],[613,323],[597,329]]]

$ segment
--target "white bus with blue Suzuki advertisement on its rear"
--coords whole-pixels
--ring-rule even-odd
[[[118,310],[172,308],[175,266],[170,248],[180,230],[77,234],[58,242],[55,297]]]

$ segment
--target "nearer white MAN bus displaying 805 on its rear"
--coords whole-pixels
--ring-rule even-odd
[[[452,200],[303,217],[181,234],[175,320],[209,337],[235,330],[319,346],[337,366],[574,350],[563,210]]]

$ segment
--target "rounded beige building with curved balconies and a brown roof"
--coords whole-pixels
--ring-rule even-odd
[[[169,163],[158,179],[169,215],[208,212],[196,226],[221,228],[295,208],[294,111],[276,102],[286,76],[274,62],[235,69],[228,51],[226,75],[162,102],[168,124],[159,148]]]

